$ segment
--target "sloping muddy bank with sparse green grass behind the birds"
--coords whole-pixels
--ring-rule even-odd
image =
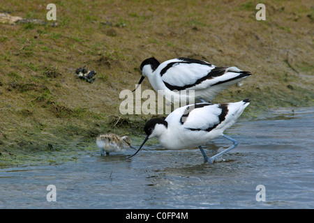
[[[0,24],[0,166],[93,149],[101,132],[142,133],[151,116],[121,115],[119,93],[134,89],[150,56],[251,71],[213,101],[250,98],[248,118],[313,106],[313,2],[264,1],[265,21],[257,3],[56,0],[56,26],[43,1],[1,2],[0,13],[46,24]],[[75,76],[82,66],[96,70],[93,84]]]

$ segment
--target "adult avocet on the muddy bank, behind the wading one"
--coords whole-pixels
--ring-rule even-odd
[[[138,84],[148,77],[154,90],[163,90],[167,100],[180,102],[184,97],[190,103],[195,100],[210,102],[220,91],[251,75],[251,72],[236,67],[216,67],[206,61],[186,57],[163,63],[151,57],[142,62],[140,69],[142,77]]]

